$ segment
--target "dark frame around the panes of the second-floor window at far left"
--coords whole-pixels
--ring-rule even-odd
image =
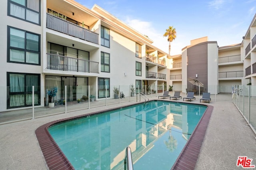
[[[24,31],[24,34],[25,34],[24,49],[10,46],[10,43],[11,43],[10,29],[16,29],[18,31]],[[26,43],[27,43],[26,34],[27,33],[30,33],[30,34],[33,34],[33,35],[38,35],[38,51],[33,51],[33,50],[26,49]],[[18,50],[18,51],[24,51],[25,61],[24,62],[11,61],[10,60],[10,49],[14,49],[14,50]],[[36,63],[26,63],[26,52],[38,54],[38,64],[36,64]],[[23,29],[7,26],[7,62],[8,63],[19,63],[19,64],[29,64],[29,65],[38,65],[38,66],[40,66],[41,65],[41,35],[37,34],[37,33],[30,32],[30,31],[26,31],[26,30],[23,30]]]

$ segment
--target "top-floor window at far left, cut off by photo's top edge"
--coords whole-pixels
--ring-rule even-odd
[[[8,0],[8,16],[40,25],[40,0]]]

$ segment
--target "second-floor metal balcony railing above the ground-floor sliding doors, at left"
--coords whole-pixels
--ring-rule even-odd
[[[47,54],[47,69],[51,70],[64,70],[75,72],[98,72],[98,62],[86,61],[82,59],[76,59],[72,57],[66,57],[55,54]]]

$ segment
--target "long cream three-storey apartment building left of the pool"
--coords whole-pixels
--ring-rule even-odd
[[[0,111],[31,107],[32,86],[36,107],[48,105],[53,87],[58,101],[66,86],[68,102],[89,92],[96,100],[113,98],[114,86],[128,86],[122,89],[126,96],[130,84],[145,93],[167,86],[170,56],[97,5],[91,10],[74,0],[2,5]]]

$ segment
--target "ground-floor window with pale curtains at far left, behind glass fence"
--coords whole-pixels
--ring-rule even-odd
[[[7,109],[32,106],[32,86],[34,105],[40,105],[40,74],[7,72]]]

